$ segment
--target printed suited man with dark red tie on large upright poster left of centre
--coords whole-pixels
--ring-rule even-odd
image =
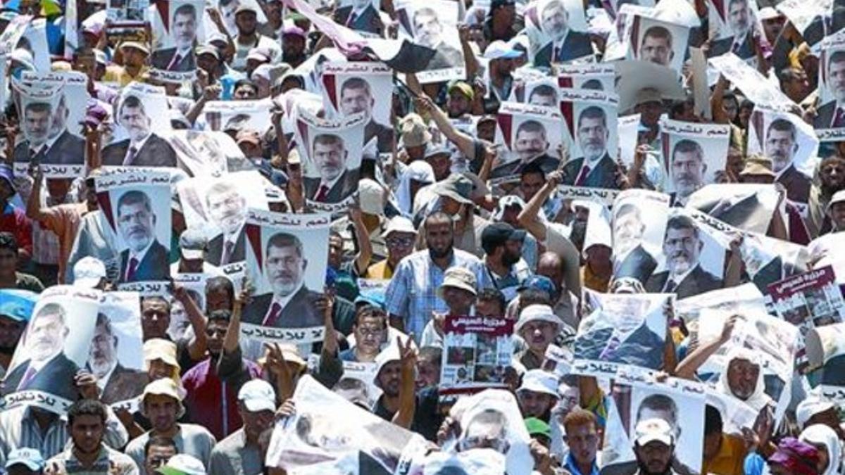
[[[287,232],[271,236],[264,253],[264,276],[271,292],[249,303],[243,312],[244,323],[277,328],[323,325],[323,316],[313,304],[319,293],[305,285],[307,267],[299,238]]]

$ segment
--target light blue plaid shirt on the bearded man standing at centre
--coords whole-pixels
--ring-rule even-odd
[[[484,265],[476,256],[461,249],[455,249],[452,266],[465,267],[476,275],[477,289],[493,287]],[[449,310],[446,303],[437,296],[437,289],[443,283],[445,270],[434,265],[428,250],[417,251],[402,259],[396,266],[390,285],[387,287],[387,311],[405,321],[405,331],[417,338],[431,319],[432,312]]]

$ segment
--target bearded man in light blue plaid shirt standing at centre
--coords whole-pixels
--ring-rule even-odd
[[[435,211],[423,222],[426,248],[402,259],[385,295],[384,307],[390,314],[390,325],[409,334],[422,335],[433,312],[443,313],[448,307],[438,297],[445,271],[455,265],[476,275],[479,289],[493,287],[480,260],[461,249],[455,249],[455,221],[452,216]]]

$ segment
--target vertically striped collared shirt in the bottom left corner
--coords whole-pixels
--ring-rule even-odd
[[[46,430],[41,431],[31,410],[31,407],[14,407],[0,412],[0,467],[5,466],[6,456],[11,450],[23,447],[36,449],[41,452],[41,456],[49,459],[68,444],[70,430],[67,418],[54,418]],[[129,434],[112,409],[106,408],[106,413],[103,442],[112,448],[123,447]]]

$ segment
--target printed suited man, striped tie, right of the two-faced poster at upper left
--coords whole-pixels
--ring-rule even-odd
[[[150,129],[150,116],[138,96],[126,96],[117,111],[117,123],[128,139],[106,145],[103,165],[123,167],[176,167],[176,151]]]

